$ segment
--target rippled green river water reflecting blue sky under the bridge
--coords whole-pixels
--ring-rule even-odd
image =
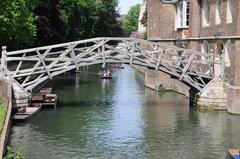
[[[48,83],[58,107],[14,124],[13,149],[26,159],[224,159],[240,147],[239,116],[199,111],[183,95],[147,89],[129,66],[113,70],[111,80],[97,71]]]

